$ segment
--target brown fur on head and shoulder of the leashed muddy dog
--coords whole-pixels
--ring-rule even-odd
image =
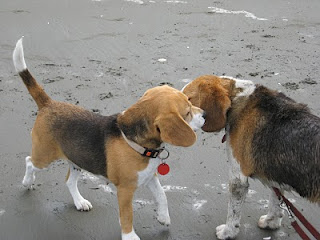
[[[183,89],[183,93],[188,96],[191,103],[204,109],[207,113],[206,122],[202,127],[204,131],[218,132],[226,126],[230,128],[227,131],[227,135],[233,156],[239,162],[242,173],[247,177],[259,176],[259,178],[267,180],[268,177],[265,175],[262,165],[258,164],[259,159],[253,156],[253,149],[256,149],[253,144],[255,133],[259,129],[266,125],[272,126],[272,124],[275,124],[268,121],[268,114],[276,114],[279,111],[283,112],[280,117],[285,114],[291,114],[285,115],[285,119],[290,122],[295,120],[296,115],[306,113],[306,118],[311,115],[312,118],[316,119],[316,125],[319,122],[319,118],[309,113],[306,106],[295,103],[282,93],[262,86],[256,86],[256,90],[250,96],[242,96],[235,100],[242,91],[244,89],[236,87],[235,80],[210,75],[201,76],[193,80]],[[263,104],[272,104],[261,100],[262,98],[270,98],[275,102],[277,99],[283,101],[284,109],[275,110],[271,109],[271,107],[275,108],[275,106],[262,106]],[[310,125],[310,128],[312,127],[314,126]],[[315,126],[314,128],[318,127]],[[314,134],[319,134],[317,133],[318,129],[314,131]],[[276,134],[274,139],[277,138]],[[305,139],[301,139],[301,141],[305,141]],[[314,149],[314,151],[318,150],[317,148]],[[319,162],[320,160],[317,160],[316,163],[312,164],[317,166]],[[271,181],[272,179],[269,180]],[[319,197],[320,189],[318,191],[319,193],[316,195]],[[315,201],[315,196],[310,196],[310,200]],[[316,201],[320,201],[320,199]]]

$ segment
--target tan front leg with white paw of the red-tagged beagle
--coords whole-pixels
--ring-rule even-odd
[[[140,240],[133,229],[132,199],[135,190],[133,186],[117,187],[122,240]]]

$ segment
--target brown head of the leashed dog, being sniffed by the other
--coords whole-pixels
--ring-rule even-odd
[[[230,79],[205,75],[196,78],[182,89],[194,106],[206,112],[203,131],[217,132],[225,127],[227,110],[231,106],[228,91],[231,84]]]

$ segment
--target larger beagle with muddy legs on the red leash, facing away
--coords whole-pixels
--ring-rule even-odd
[[[182,91],[206,112],[204,131],[226,131],[230,199],[227,222],[216,228],[219,239],[239,233],[249,177],[320,203],[320,118],[306,105],[252,81],[225,76],[201,76]],[[258,226],[279,228],[283,212],[273,191],[268,207]]]

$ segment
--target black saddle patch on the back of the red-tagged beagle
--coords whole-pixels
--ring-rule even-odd
[[[119,137],[118,114],[102,116],[89,111],[58,115],[53,119],[52,132],[64,154],[79,167],[106,176],[105,143]]]

